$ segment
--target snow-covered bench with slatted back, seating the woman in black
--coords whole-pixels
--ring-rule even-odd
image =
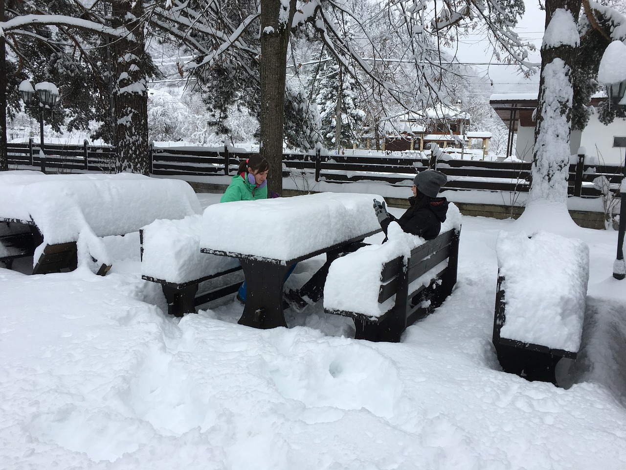
[[[432,313],[456,284],[461,216],[450,204],[433,240],[404,233],[392,223],[389,241],[369,245],[331,264],[324,311],[350,316],[356,339],[399,342],[407,326]]]

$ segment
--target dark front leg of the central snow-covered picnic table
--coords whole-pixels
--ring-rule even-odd
[[[290,266],[254,259],[240,259],[244,269],[246,299],[240,325],[253,328],[287,327],[282,311],[282,288]]]

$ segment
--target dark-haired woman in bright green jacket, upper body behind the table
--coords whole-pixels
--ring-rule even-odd
[[[267,199],[267,172],[270,164],[259,155],[252,155],[239,164],[220,202]]]

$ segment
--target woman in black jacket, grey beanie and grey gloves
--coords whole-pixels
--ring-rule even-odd
[[[399,219],[387,212],[384,202],[374,199],[374,211],[385,235],[389,224],[398,222],[407,233],[419,235],[426,240],[436,238],[441,230],[441,222],[446,220],[449,204],[445,197],[437,197],[437,194],[447,180],[446,175],[437,170],[418,173],[411,188],[413,197],[409,197],[411,207]]]

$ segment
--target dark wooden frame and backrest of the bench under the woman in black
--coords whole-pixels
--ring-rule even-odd
[[[326,313],[354,318],[356,339],[399,342],[407,326],[432,313],[456,284],[460,229],[449,229],[433,240],[382,266],[378,302],[390,305],[380,316],[326,308]],[[446,263],[447,260],[447,263]]]

